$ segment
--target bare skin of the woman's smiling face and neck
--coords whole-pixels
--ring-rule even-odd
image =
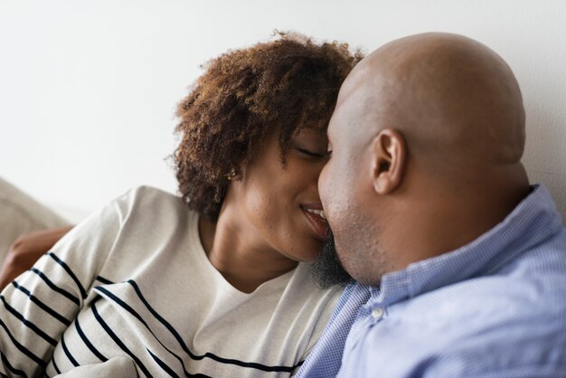
[[[253,291],[297,261],[316,258],[324,235],[304,209],[322,209],[317,182],[326,148],[324,132],[304,128],[291,138],[283,165],[273,133],[231,180],[218,222],[201,218],[204,250],[235,288]]]

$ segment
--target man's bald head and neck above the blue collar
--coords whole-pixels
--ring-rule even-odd
[[[388,43],[344,81],[319,190],[363,284],[493,228],[529,193],[521,92],[486,46],[446,33]]]

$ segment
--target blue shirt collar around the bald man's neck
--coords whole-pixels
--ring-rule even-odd
[[[467,245],[410,264],[383,276],[380,288],[370,288],[374,302],[388,306],[450,284],[498,271],[562,228],[551,194],[533,185],[531,194],[493,229]]]

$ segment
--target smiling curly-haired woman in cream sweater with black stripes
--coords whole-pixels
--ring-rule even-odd
[[[325,127],[360,58],[288,34],[211,61],[177,110],[182,199],[124,194],[8,285],[3,373],[293,373],[339,294],[300,261],[321,247]]]

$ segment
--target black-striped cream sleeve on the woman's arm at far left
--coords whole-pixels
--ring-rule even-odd
[[[65,235],[0,294],[0,376],[36,376],[71,326],[127,213],[109,203]]]

